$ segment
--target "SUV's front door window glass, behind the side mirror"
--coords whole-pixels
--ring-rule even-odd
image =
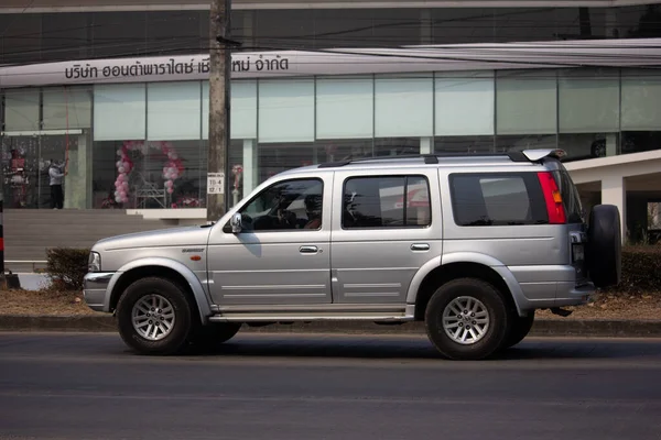
[[[257,195],[239,212],[247,231],[318,230],[324,184],[321,179],[278,183]]]

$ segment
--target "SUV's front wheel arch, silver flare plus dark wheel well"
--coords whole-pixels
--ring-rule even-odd
[[[137,260],[122,266],[108,285],[106,310],[115,311],[121,294],[131,283],[149,276],[158,276],[170,279],[181,286],[192,301],[192,306],[196,307],[199,319],[206,323],[207,318],[212,316],[210,301],[199,278],[188,267],[180,262],[170,258],[144,258]]]

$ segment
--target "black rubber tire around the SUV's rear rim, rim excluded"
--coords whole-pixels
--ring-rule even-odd
[[[481,301],[488,312],[489,324],[481,339],[470,344],[454,341],[443,327],[443,312],[456,298],[472,297]],[[427,336],[436,350],[452,360],[480,360],[495,353],[508,334],[510,309],[498,289],[475,278],[459,278],[441,286],[427,304],[425,323]]]

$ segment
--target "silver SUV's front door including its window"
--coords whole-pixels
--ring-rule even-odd
[[[215,304],[332,301],[332,173],[275,182],[239,208],[240,233],[214,228],[208,271]]]

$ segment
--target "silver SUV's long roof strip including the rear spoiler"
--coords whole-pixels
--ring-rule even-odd
[[[280,173],[279,175],[299,174],[314,170],[334,172],[339,169],[365,170],[383,168],[409,168],[420,166],[433,167],[468,167],[468,166],[521,166],[540,165],[546,158],[561,160],[566,156],[562,150],[540,148],[523,150],[506,153],[481,153],[481,154],[420,154],[411,156],[381,156],[339,162],[324,163],[297,167]]]

